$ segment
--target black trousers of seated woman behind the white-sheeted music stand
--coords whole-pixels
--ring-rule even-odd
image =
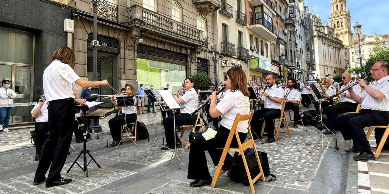
[[[197,116],[191,116],[191,114],[175,114],[175,126],[193,125]],[[176,142],[180,142],[177,132],[174,129],[173,116],[166,117],[163,120],[163,128],[165,129],[166,145],[174,145],[174,137]]]

